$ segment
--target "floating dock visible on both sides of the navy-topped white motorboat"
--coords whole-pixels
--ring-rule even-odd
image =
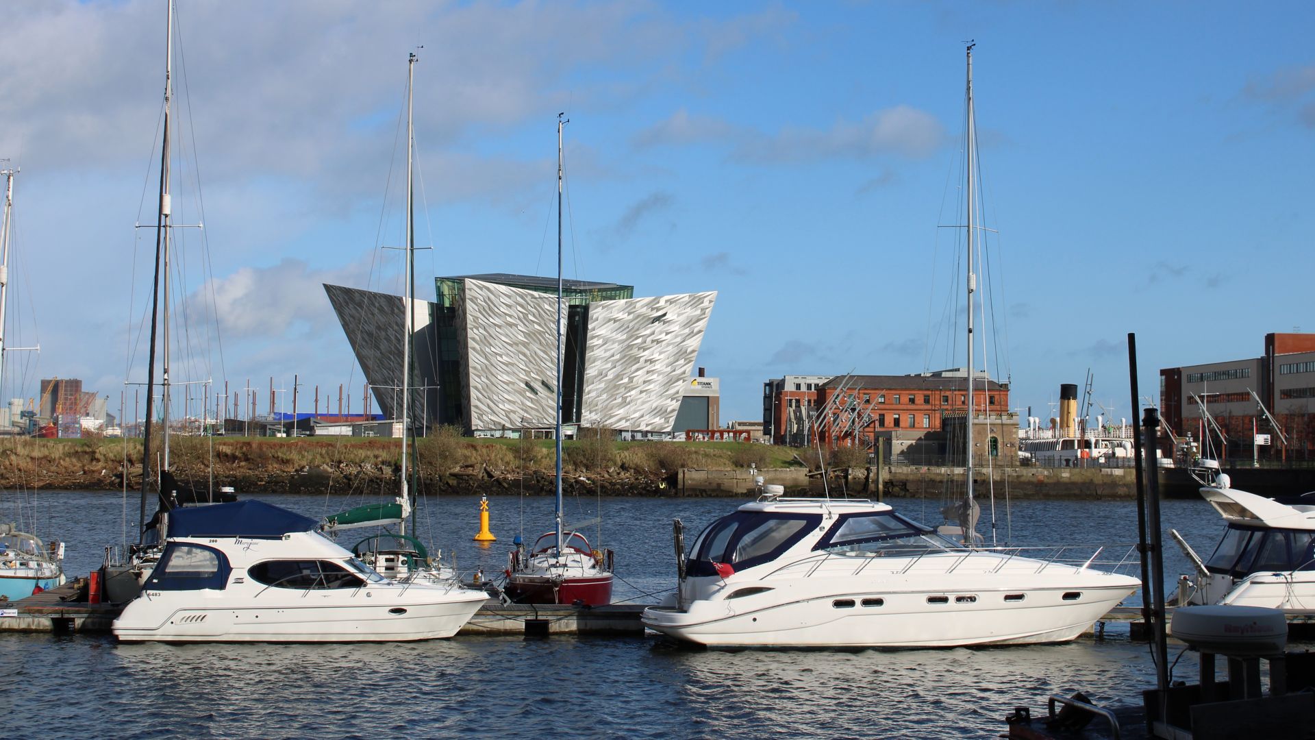
[[[25,599],[0,603],[0,632],[107,633],[124,606],[88,603],[87,582],[79,578]],[[639,615],[644,606],[502,604],[497,599],[489,599],[462,627],[459,635],[640,637],[644,625],[639,621]]]

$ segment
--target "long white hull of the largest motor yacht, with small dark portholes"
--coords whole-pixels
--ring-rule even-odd
[[[731,603],[696,602],[688,610],[650,607],[646,627],[707,647],[773,648],[956,648],[1065,643],[1091,627],[1135,586],[1028,589],[1006,602],[1005,591],[963,589],[892,593],[831,593],[782,602],[755,596]],[[1076,600],[1065,594],[1080,591]],[[802,594],[801,594],[802,595]],[[974,600],[968,602],[967,598]],[[944,600],[940,600],[944,598]],[[935,603],[932,603],[935,599]],[[842,606],[835,606],[835,604]],[[852,604],[852,606],[848,606]],[[729,614],[730,612],[730,614]]]

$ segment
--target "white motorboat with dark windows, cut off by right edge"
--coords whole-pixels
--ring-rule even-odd
[[[1230,487],[1219,474],[1201,495],[1228,528],[1210,560],[1170,532],[1197,568],[1187,604],[1233,604],[1315,614],[1315,506],[1282,504]]]

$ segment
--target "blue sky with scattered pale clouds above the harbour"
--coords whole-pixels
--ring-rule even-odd
[[[14,183],[0,394],[145,381],[163,0],[0,4]],[[722,421],[785,374],[963,365],[964,46],[989,284],[985,366],[1131,412],[1159,369],[1315,330],[1310,3],[183,0],[175,382],[364,383],[321,283],[401,292],[416,51],[419,295],[551,274],[718,291],[697,366]],[[956,303],[957,302],[957,303]],[[213,309],[210,309],[213,307]],[[183,316],[185,313],[185,316]],[[982,357],[982,349],[978,349]],[[200,391],[195,391],[200,392]],[[279,394],[291,411],[291,394]]]

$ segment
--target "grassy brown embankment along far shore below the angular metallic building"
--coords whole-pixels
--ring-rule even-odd
[[[174,436],[175,474],[204,487],[213,460],[214,485],[246,492],[352,492],[393,486],[400,444],[362,437],[208,437]],[[551,490],[551,440],[476,440],[441,429],[417,444],[416,458],[425,486],[435,492]],[[563,444],[564,470],[572,485],[589,477],[589,490],[608,494],[656,492],[682,467],[732,470],[798,465],[797,450],[747,442],[613,442],[584,438]],[[151,446],[153,456],[159,445]],[[7,489],[117,490],[121,471],[129,487],[139,486],[141,440],[0,441],[0,486]]]

